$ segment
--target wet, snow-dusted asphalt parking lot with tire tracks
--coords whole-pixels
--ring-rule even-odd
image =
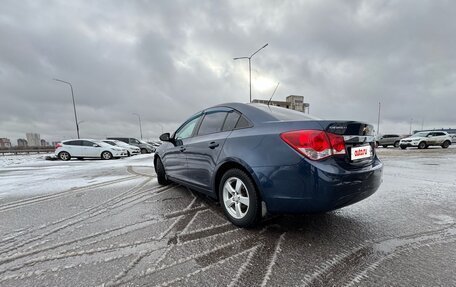
[[[0,286],[455,286],[456,148],[378,153],[370,198],[251,230],[150,155],[5,166]]]

